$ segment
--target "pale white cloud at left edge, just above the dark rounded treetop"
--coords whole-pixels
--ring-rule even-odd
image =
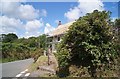
[[[21,30],[23,28],[23,22],[21,22],[19,19],[0,16],[0,26],[0,33],[17,33],[17,30]]]

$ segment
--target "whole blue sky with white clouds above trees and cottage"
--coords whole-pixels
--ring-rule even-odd
[[[74,21],[93,10],[111,11],[114,21],[118,18],[118,2],[101,0],[77,2],[1,2],[0,34],[15,33],[19,38],[47,34],[62,24]]]

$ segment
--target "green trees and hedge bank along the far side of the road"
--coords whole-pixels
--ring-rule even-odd
[[[1,51],[3,62],[22,60],[33,57],[35,61],[43,54],[45,49],[46,35],[18,39],[15,34],[1,35]]]

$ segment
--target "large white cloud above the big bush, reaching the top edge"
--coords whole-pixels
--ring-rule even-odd
[[[69,11],[64,14],[68,21],[76,20],[79,17],[84,16],[86,13],[91,13],[96,9],[99,11],[104,10],[104,5],[101,0],[79,0],[78,3],[78,6],[70,8]]]

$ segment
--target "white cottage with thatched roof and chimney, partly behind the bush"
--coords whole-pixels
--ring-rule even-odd
[[[62,36],[66,33],[66,31],[68,31],[68,28],[73,24],[73,22],[61,24],[61,21],[59,21],[58,27],[49,33],[47,38],[50,39],[48,44],[52,52],[56,52],[56,45],[61,41]]]

